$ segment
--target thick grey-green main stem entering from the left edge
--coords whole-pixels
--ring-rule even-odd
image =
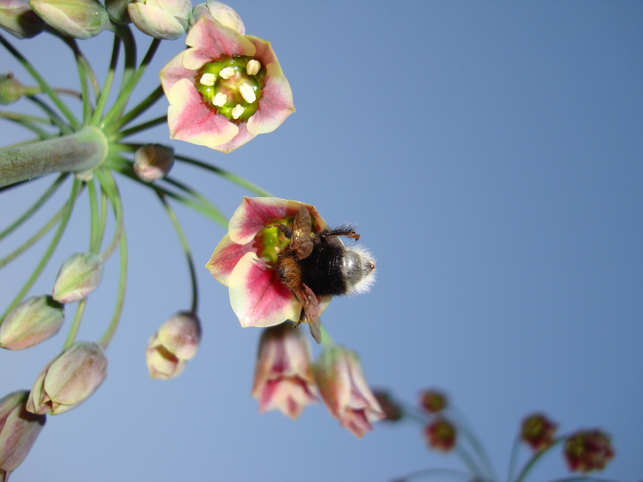
[[[100,165],[109,144],[97,127],[46,139],[23,147],[0,150],[0,186],[51,172],[83,172]]]

